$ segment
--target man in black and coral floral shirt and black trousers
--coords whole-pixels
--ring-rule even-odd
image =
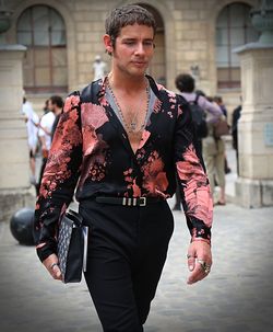
[[[104,44],[111,71],[67,99],[35,213],[37,254],[61,279],[58,220],[78,183],[79,211],[91,227],[84,276],[106,332],[143,331],[174,229],[166,198],[175,169],[191,232],[188,284],[212,264],[212,197],[187,102],[145,76],[154,36],[145,9],[110,13]]]

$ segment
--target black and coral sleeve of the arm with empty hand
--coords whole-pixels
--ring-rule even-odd
[[[178,98],[179,100],[179,98]],[[191,241],[211,244],[213,201],[188,104],[180,101],[175,131],[175,164]]]

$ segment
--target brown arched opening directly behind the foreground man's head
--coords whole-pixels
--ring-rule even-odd
[[[147,73],[151,75],[158,83],[166,85],[165,33],[163,18],[154,7],[146,3],[138,4],[145,8],[154,15],[157,26],[155,35],[155,54]]]

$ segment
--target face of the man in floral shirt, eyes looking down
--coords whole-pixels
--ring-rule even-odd
[[[129,76],[143,76],[154,54],[154,31],[146,25],[121,28],[112,50],[112,64]]]

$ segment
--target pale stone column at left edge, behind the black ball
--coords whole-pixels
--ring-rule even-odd
[[[0,45],[0,220],[29,203],[27,133],[20,108],[26,47]]]

